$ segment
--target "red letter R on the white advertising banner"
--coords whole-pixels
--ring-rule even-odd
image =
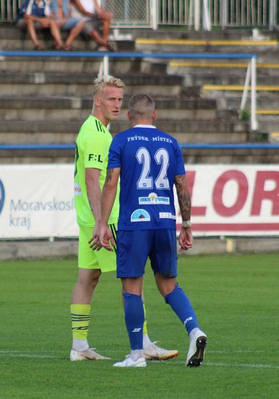
[[[273,190],[265,190],[267,180],[275,182]],[[272,214],[279,215],[279,172],[257,172],[251,215],[260,214],[263,200],[270,200],[272,202]]]

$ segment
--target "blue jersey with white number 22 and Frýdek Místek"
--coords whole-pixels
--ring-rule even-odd
[[[184,175],[177,141],[149,125],[116,135],[107,169],[121,168],[119,230],[176,229],[173,184]]]

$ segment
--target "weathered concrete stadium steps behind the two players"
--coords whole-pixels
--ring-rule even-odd
[[[160,38],[162,32],[131,30],[131,40],[113,40],[119,51],[153,50],[139,44],[137,37]],[[164,38],[203,39],[205,32],[164,32]],[[210,32],[210,38],[231,38],[250,35],[251,32]],[[206,34],[209,38],[208,33]],[[40,34],[46,46],[48,35]],[[112,37],[113,38],[113,37]],[[271,41],[276,41],[272,38]],[[93,42],[78,38],[78,50],[95,50]],[[177,51],[204,51],[204,44]],[[206,50],[208,50],[206,45]],[[274,44],[272,44],[274,46]],[[0,48],[32,49],[26,35],[14,26],[0,26]],[[230,51],[232,51],[230,46]],[[266,49],[265,46],[263,46]],[[156,45],[156,51],[167,50],[167,45]],[[171,45],[171,51],[176,51]],[[215,50],[216,51],[216,48]],[[219,49],[218,49],[219,51]],[[226,50],[228,51],[228,50]],[[237,50],[238,51],[244,51]],[[246,49],[245,49],[246,52]],[[102,56],[102,53],[101,53]],[[102,58],[100,58],[101,60]],[[72,144],[82,122],[92,109],[92,82],[97,76],[100,60],[86,58],[1,57],[0,60],[0,144]],[[258,140],[250,132],[249,121],[238,117],[241,92],[206,90],[206,85],[239,85],[245,79],[245,69],[175,66],[157,60],[111,59],[110,73],[126,83],[123,110],[119,120],[111,124],[111,132],[127,129],[129,97],[139,91],[150,94],[157,108],[156,126],[172,134],[179,143],[246,143]],[[261,84],[276,84],[274,69]],[[273,75],[274,73],[274,75]],[[258,78],[261,75],[258,73]],[[259,83],[260,84],[260,83]],[[279,81],[278,81],[279,84]],[[278,99],[274,96],[274,104]],[[264,99],[263,99],[264,103]],[[272,121],[270,122],[272,123]],[[267,125],[266,125],[267,126]],[[261,132],[262,133],[262,132]],[[264,135],[266,140],[267,135]],[[260,137],[262,138],[262,136]],[[183,150],[188,163],[272,163],[278,160],[278,151],[271,150]],[[73,162],[73,151],[0,151],[3,163]]]

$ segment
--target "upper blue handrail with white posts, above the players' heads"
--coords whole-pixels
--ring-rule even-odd
[[[100,56],[98,51],[0,51],[3,57],[68,57],[68,58],[101,58],[99,75],[109,74],[110,58],[145,58],[145,59],[249,59],[245,86],[241,101],[241,109],[245,108],[248,95],[249,83],[251,81],[251,129],[257,130],[256,116],[256,81],[257,81],[257,54],[219,54],[219,53],[144,53],[144,52],[103,52]]]

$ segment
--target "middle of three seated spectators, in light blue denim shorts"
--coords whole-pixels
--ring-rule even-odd
[[[71,15],[69,0],[51,0],[50,10],[58,28],[70,31],[65,41],[64,49],[73,51],[74,47],[71,43],[82,31],[85,21]],[[57,43],[55,43],[54,46],[55,45],[57,45]]]

